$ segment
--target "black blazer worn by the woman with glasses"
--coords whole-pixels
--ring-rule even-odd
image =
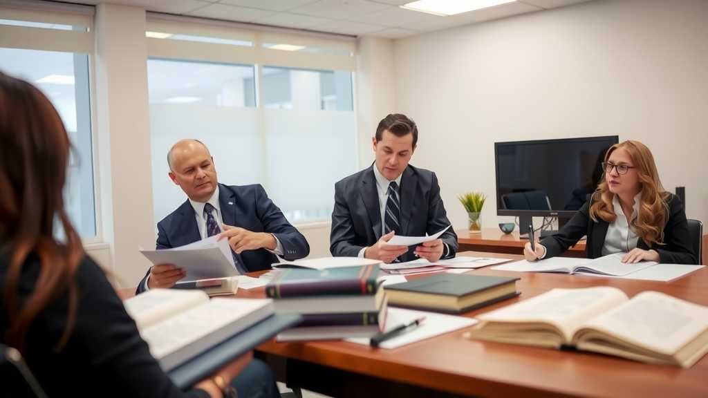
[[[588,195],[588,200],[581,207],[576,215],[566,223],[561,230],[552,237],[547,237],[541,241],[546,246],[546,258],[558,256],[568,250],[570,246],[578,243],[583,236],[588,237],[586,243],[586,255],[588,258],[598,258],[602,256],[605,245],[605,235],[610,224],[603,220],[594,222],[590,218],[590,203],[593,195]],[[670,264],[696,264],[696,255],[693,253],[691,237],[688,233],[688,223],[683,203],[678,196],[670,194],[668,198],[668,220],[664,226],[664,244],[649,247],[641,238],[636,246],[639,249],[656,250],[661,258],[661,263]]]

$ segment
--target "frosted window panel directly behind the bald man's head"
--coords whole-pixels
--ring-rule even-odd
[[[150,106],[152,187],[155,221],[169,215],[187,196],[169,176],[167,152],[183,138],[195,138],[209,148],[220,183],[263,183],[258,110],[198,104]]]

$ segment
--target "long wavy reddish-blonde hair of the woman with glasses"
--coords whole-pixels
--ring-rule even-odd
[[[654,157],[646,145],[639,141],[624,141],[614,144],[607,149],[605,162],[610,159],[610,155],[617,148],[622,148],[632,158],[636,173],[639,176],[641,185],[641,199],[639,201],[639,212],[632,221],[632,227],[637,236],[646,242],[650,247],[653,244],[663,244],[663,228],[668,219],[668,200],[670,193],[664,191],[659,180],[658,171]],[[617,218],[612,205],[614,194],[607,187],[607,174],[598,185],[598,189],[593,193],[593,204],[590,206],[590,218],[597,222],[598,219],[606,222],[613,222]]]

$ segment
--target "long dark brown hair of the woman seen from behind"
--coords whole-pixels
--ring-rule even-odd
[[[78,305],[74,281],[84,256],[81,239],[64,211],[64,178],[69,137],[57,110],[35,86],[0,72],[0,241],[8,249],[3,304],[8,314],[6,341],[23,351],[33,319],[59,295],[69,295],[61,349],[72,333]],[[55,220],[65,243],[54,237]],[[36,257],[40,272],[32,293],[18,300],[25,262]]]

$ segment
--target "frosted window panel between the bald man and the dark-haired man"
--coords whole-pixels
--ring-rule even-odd
[[[330,220],[334,183],[357,169],[355,115],[264,110],[268,191],[290,222]]]

